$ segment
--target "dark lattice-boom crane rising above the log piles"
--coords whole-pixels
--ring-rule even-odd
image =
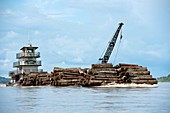
[[[123,24],[122,22],[119,23],[119,27],[117,28],[117,30],[116,30],[113,38],[112,38],[111,41],[109,42],[109,45],[108,45],[108,47],[107,47],[107,50],[106,50],[103,58],[99,58],[99,60],[101,60],[101,63],[102,63],[102,64],[105,64],[105,63],[108,62],[108,60],[109,60],[109,58],[110,58],[110,55],[111,55],[111,53],[112,53],[112,51],[113,51],[113,48],[114,48],[114,46],[115,46],[115,44],[116,44],[116,40],[117,40],[117,37],[118,37],[119,32],[120,32],[120,30],[121,30],[121,27],[122,27],[123,25],[124,25],[124,24]],[[121,38],[122,38],[122,36],[121,36]]]

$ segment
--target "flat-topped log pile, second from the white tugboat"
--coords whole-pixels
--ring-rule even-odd
[[[84,71],[81,68],[58,68],[55,67],[52,72],[51,85],[70,86],[81,85],[84,77]]]

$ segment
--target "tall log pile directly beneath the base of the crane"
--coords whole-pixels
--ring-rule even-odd
[[[92,64],[86,76],[83,86],[99,86],[118,80],[117,71],[112,64]]]

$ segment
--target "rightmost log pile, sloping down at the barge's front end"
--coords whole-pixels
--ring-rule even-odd
[[[119,64],[115,68],[125,83],[157,84],[156,78],[150,75],[150,71],[146,67],[134,64]]]

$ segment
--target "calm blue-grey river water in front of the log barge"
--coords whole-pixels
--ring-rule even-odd
[[[158,88],[1,87],[0,113],[170,113],[170,83]]]

